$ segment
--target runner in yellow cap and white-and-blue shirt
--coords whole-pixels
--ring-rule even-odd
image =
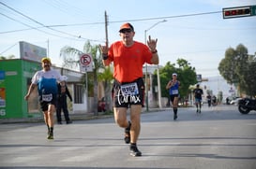
[[[51,68],[52,63],[50,58],[42,58],[41,66],[43,69],[36,72],[34,77],[32,77],[31,85],[24,99],[28,100],[31,92],[38,86],[39,103],[43,111],[45,124],[48,128],[47,138],[53,139],[53,113],[57,102],[57,82],[61,82],[62,77],[59,72]]]

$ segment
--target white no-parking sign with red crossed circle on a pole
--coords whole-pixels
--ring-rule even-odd
[[[92,56],[90,54],[82,54],[80,56],[80,71],[81,72],[92,72],[93,63]]]

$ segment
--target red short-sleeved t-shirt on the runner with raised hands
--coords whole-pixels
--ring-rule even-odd
[[[131,47],[124,46],[122,41],[113,43],[108,56],[113,62],[113,77],[119,82],[131,82],[143,77],[143,64],[151,63],[152,59],[150,49],[137,41]]]

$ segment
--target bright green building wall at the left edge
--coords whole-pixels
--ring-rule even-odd
[[[41,69],[40,63],[23,59],[0,61],[0,119],[40,117],[38,92],[24,100],[31,77]]]

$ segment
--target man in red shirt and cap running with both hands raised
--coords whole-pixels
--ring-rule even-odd
[[[120,41],[110,49],[100,46],[105,66],[113,63],[113,112],[115,122],[125,128],[125,141],[130,144],[131,156],[142,156],[137,148],[141,131],[141,112],[144,99],[143,64],[158,64],[158,39],[149,39],[147,46],[133,40],[134,28],[130,23],[121,25]],[[130,120],[127,111],[130,108]]]

